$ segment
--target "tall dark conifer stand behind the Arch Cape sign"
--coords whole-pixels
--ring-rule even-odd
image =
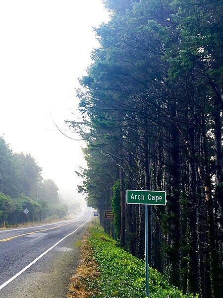
[[[127,189],[167,192],[149,206],[149,265],[185,294],[220,298],[223,228],[223,2],[105,0],[110,21],[77,89],[86,141],[79,192],[113,210],[113,237],[144,258],[144,206]]]

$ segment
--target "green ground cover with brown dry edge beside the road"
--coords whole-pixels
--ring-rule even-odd
[[[75,275],[71,279],[69,288],[71,293],[68,297],[144,298],[145,262],[118,247],[117,242],[104,233],[99,226],[90,227],[89,232],[85,249],[89,253],[90,245],[91,260],[86,262],[86,254],[84,257],[82,255],[85,267],[82,263],[82,271],[79,272],[81,275]],[[79,296],[75,296],[77,293]],[[183,295],[182,291],[170,285],[167,277],[156,269],[150,268],[150,298],[167,297],[192,298],[198,296]]]

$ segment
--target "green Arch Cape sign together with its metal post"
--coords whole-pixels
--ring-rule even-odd
[[[146,298],[149,298],[149,243],[148,243],[148,205],[166,205],[166,191],[127,189],[127,204],[145,205],[145,267],[146,267]]]

